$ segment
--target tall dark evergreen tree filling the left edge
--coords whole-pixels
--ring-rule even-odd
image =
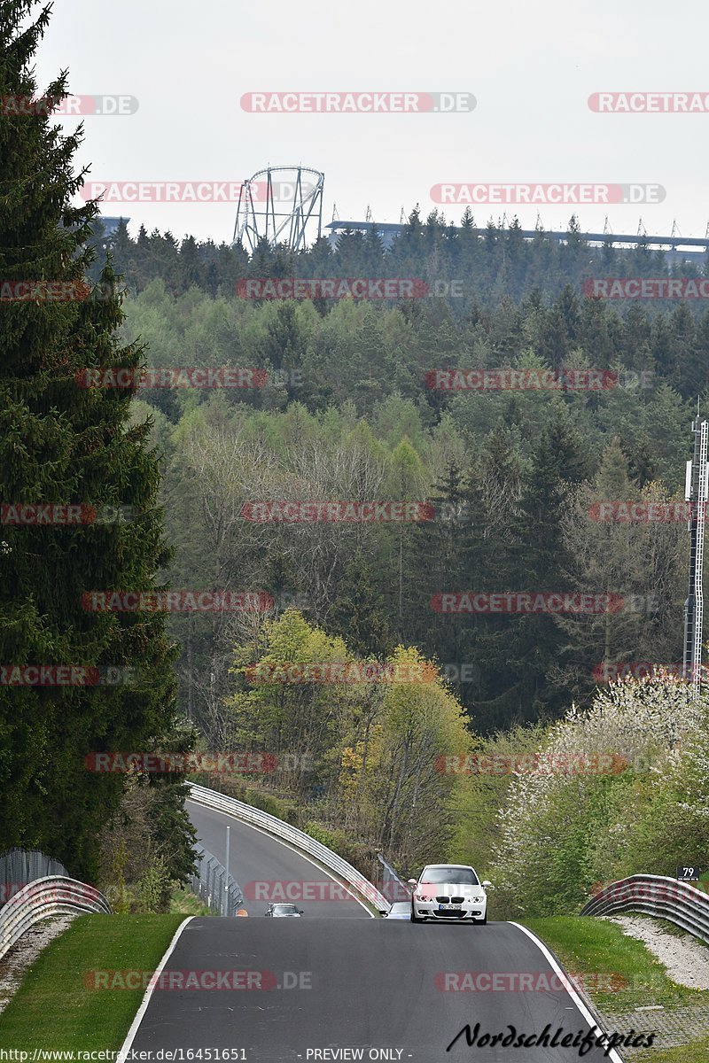
[[[50,9],[33,20],[35,7],[36,0],[0,0],[0,98],[37,95],[32,66]],[[47,96],[66,95],[62,75]],[[82,184],[72,169],[80,142],[80,133],[63,136],[46,114],[0,122],[4,281],[79,285],[88,272],[98,207],[70,205]],[[0,497],[99,510],[126,506],[137,514],[126,523],[0,530],[3,665],[128,667],[135,677],[115,686],[30,686],[16,685],[19,673],[11,671],[0,685],[0,850],[36,847],[89,878],[123,777],[88,772],[87,754],[150,748],[173,724],[162,615],[91,611],[83,597],[94,590],[150,591],[167,558],[156,459],[148,426],[129,426],[131,389],[77,384],[86,368],[140,365],[140,349],[122,348],[116,337],[123,315],[114,292],[107,267],[99,296],[0,303]],[[183,796],[178,787],[178,805]]]

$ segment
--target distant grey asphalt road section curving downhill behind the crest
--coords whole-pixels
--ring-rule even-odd
[[[273,899],[297,904],[306,918],[370,917],[370,910],[344,887],[288,845],[195,802],[187,802],[187,809],[202,845],[221,863],[230,825],[229,870],[243,891],[250,916],[261,916]]]

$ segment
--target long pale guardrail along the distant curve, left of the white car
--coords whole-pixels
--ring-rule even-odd
[[[375,885],[368,882],[356,867],[353,867],[342,857],[338,857],[326,845],[322,845],[315,838],[310,838],[303,830],[299,830],[298,827],[292,827],[289,823],[284,823],[283,820],[278,820],[268,812],[261,812],[260,809],[253,808],[251,805],[244,805],[243,802],[237,800],[235,797],[226,797],[224,794],[217,793],[216,790],[208,790],[206,787],[197,786],[195,782],[189,783],[189,796],[191,800],[197,802],[199,805],[215,809],[217,812],[225,812],[227,815],[233,815],[242,823],[260,827],[261,830],[268,831],[268,833],[273,834],[275,838],[290,842],[296,848],[302,849],[303,853],[315,857],[316,860],[319,860],[330,871],[339,875],[348,885],[351,885],[353,890],[361,894],[374,908],[379,911],[389,910],[387,898],[379,893]]]

